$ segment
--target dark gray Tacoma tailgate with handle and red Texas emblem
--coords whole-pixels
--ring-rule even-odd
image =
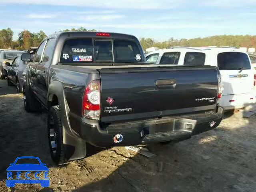
[[[102,68],[101,121],[161,118],[214,110],[217,68]]]

